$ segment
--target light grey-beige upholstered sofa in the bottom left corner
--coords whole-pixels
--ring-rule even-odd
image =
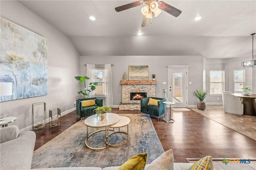
[[[0,169],[30,169],[35,142],[34,131],[19,133],[17,126],[0,128]]]

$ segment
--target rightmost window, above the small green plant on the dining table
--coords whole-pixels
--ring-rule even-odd
[[[243,93],[245,70],[234,70],[234,93]]]

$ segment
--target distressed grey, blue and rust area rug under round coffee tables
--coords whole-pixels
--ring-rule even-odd
[[[148,153],[147,164],[150,164],[164,149],[154,129],[149,115],[129,114],[130,141],[120,147],[110,147],[104,150],[91,150],[84,144],[86,139],[86,126],[84,121],[72,125],[70,128],[34,151],[31,168],[54,167],[108,167],[120,166],[126,160],[139,153]],[[99,128],[88,128],[89,134]],[[126,131],[127,128],[120,128]],[[90,146],[105,146],[105,132],[91,136]],[[122,140],[126,135],[111,136],[111,141]]]

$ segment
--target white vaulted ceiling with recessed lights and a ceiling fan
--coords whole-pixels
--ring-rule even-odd
[[[252,56],[256,0],[163,0],[182,13],[175,18],[162,11],[147,27],[141,27],[145,4],[114,10],[134,1],[18,0],[68,36],[80,55]],[[198,15],[202,19],[195,22]]]

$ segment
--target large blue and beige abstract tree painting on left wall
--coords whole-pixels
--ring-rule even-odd
[[[47,95],[47,39],[0,19],[0,83],[12,85],[12,95],[1,95],[1,102]]]

